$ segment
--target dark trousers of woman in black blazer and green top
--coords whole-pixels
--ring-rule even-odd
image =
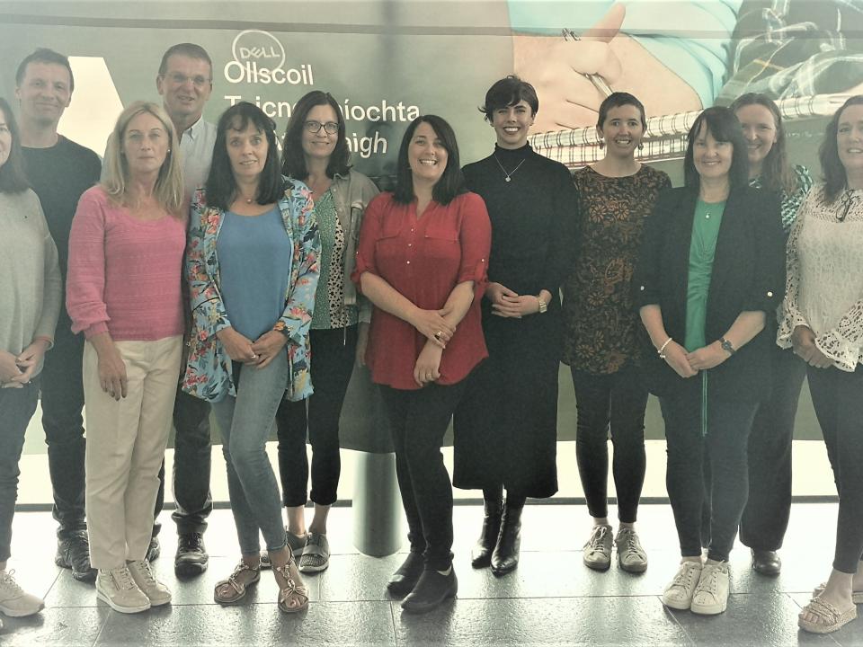
[[[701,377],[693,377],[700,383]],[[707,556],[727,561],[749,494],[747,448],[757,403],[723,402],[707,389],[707,434],[702,435],[702,391],[691,385],[662,397],[668,466],[665,484],[683,557],[701,554],[702,505],[711,510]],[[704,470],[712,479],[706,492]]]

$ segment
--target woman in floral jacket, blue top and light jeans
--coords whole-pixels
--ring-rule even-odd
[[[216,585],[216,601],[236,602],[260,579],[260,534],[279,607],[293,612],[307,607],[307,589],[286,545],[265,445],[282,397],[312,393],[308,331],[321,246],[306,185],[280,173],[274,127],[246,102],[218,122],[206,191],[192,201],[193,332],[183,389],[213,403],[243,555]]]

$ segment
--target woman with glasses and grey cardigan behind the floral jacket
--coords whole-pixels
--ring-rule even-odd
[[[309,332],[315,394],[283,400],[276,414],[282,502],[288,510],[288,543],[300,572],[324,571],[329,564],[326,518],[336,500],[341,473],[339,416],[354,361],[363,363],[369,338],[371,304],[357,296],[351,281],[360,225],[378,188],[348,163],[344,118],[330,93],[302,97],[288,122],[281,173],[305,182],[315,200],[321,237],[320,279]],[[312,446],[311,500],[315,516],[306,526],[308,459]]]

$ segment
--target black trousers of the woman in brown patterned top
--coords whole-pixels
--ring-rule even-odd
[[[608,517],[609,430],[614,448],[611,471],[618,494],[618,518],[635,523],[645,484],[647,390],[636,368],[597,375],[571,368],[578,412],[575,458],[587,510]]]

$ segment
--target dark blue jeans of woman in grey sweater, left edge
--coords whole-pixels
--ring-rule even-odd
[[[12,518],[18,498],[18,460],[24,447],[24,432],[36,411],[39,378],[23,388],[0,389],[0,562],[9,559]]]

